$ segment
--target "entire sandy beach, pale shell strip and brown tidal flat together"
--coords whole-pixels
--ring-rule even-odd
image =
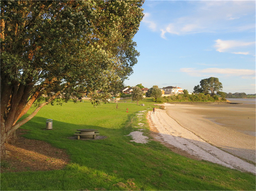
[[[255,174],[255,105],[164,106],[148,114],[155,139],[199,160]]]

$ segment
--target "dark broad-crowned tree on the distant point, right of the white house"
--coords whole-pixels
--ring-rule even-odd
[[[213,97],[215,95],[215,92],[218,92],[222,90],[222,83],[219,82],[218,78],[210,77],[206,79],[202,79],[200,81],[200,86],[197,85],[194,87],[195,93],[210,93]]]

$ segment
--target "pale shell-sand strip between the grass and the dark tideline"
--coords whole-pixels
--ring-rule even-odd
[[[170,105],[171,104],[165,104],[167,107]],[[223,150],[220,150],[212,144],[209,144],[209,140],[201,138],[201,136],[192,132],[189,130],[190,128],[188,128],[191,126],[198,126],[200,124],[201,126],[208,127],[206,129],[201,129],[201,131],[204,131],[206,134],[209,134],[207,129],[211,129],[211,131],[212,129],[215,129],[216,132],[211,132],[211,136],[214,137],[214,133],[219,133],[217,131],[218,128],[216,127],[218,125],[214,124],[213,122],[210,123],[208,120],[204,121],[202,119],[194,118],[193,123],[189,123],[188,121],[186,124],[187,127],[184,127],[179,122],[177,122],[175,118],[170,117],[167,113],[168,109],[157,109],[155,114],[152,114],[152,112],[149,113],[148,118],[150,120],[151,126],[154,126],[159,131],[159,134],[156,136],[157,139],[162,140],[165,143],[175,146],[181,150],[184,150],[190,155],[194,155],[201,160],[207,160],[232,169],[252,172],[255,174],[255,165],[245,162],[244,160],[239,159],[238,157],[231,155]],[[175,113],[176,116],[179,115],[179,112]],[[182,118],[187,118],[189,116],[189,114],[184,116],[184,113],[180,113],[180,115],[183,115],[180,116]]]

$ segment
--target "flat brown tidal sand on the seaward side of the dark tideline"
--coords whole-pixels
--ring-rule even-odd
[[[255,108],[243,104],[167,108],[170,117],[210,144],[255,163]]]

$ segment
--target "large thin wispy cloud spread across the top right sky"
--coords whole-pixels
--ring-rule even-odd
[[[168,33],[186,35],[219,31],[255,31],[255,22],[248,23],[247,19],[249,13],[255,15],[255,2],[192,1],[189,3],[194,11],[188,12],[184,17],[172,18],[172,22],[160,27],[162,38],[166,39]]]

